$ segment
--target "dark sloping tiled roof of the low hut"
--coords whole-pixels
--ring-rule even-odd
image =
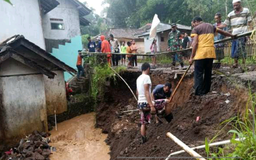
[[[42,58],[46,59],[48,62],[53,63],[55,66],[58,68],[67,71],[67,72],[72,72],[74,74],[77,73],[77,71],[66,65],[64,62],[60,61],[58,58],[52,56],[50,53],[46,52],[42,48],[38,47],[34,43],[30,42],[29,40],[25,39],[23,35],[14,35],[5,41],[3,41],[0,44],[0,56],[1,53],[4,52],[6,49],[12,49],[16,50],[19,47],[25,47],[26,49],[36,53],[37,55],[41,56]],[[29,53],[27,53],[29,54]],[[28,57],[28,56],[26,56]]]

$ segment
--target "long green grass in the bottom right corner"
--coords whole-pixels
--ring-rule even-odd
[[[246,65],[245,65],[246,67]],[[235,82],[234,82],[235,83]],[[250,83],[249,83],[250,84]],[[209,149],[209,143],[211,143],[216,137],[218,137],[221,130],[210,142],[205,140],[206,153],[211,157],[241,157],[241,160],[256,160],[256,136],[255,131],[253,133],[253,128],[256,128],[255,120],[255,104],[256,104],[256,93],[251,92],[250,85],[249,88],[249,98],[245,104],[245,113],[240,116],[237,115],[231,119],[226,120],[222,124],[226,123],[232,124],[233,129],[228,133],[233,134],[231,145],[224,148],[218,148],[217,153],[211,153]],[[223,128],[225,128],[223,127]],[[236,138],[245,138],[243,141],[236,141]],[[210,158],[209,158],[210,159]],[[215,158],[214,160],[233,160],[232,158]]]

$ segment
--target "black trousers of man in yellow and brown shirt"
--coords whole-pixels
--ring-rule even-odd
[[[195,95],[210,92],[212,81],[213,58],[195,60]]]

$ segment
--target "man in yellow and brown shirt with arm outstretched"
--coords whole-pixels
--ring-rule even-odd
[[[192,30],[191,37],[194,37],[194,41],[189,63],[192,64],[193,59],[195,60],[195,95],[202,96],[211,89],[213,59],[216,58],[214,33],[232,38],[234,35],[203,22],[199,16],[193,19],[193,23],[195,28]]]

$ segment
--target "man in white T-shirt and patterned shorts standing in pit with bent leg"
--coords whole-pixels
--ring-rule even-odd
[[[151,79],[150,79],[150,64],[143,63],[142,64],[142,75],[140,75],[137,79],[137,95],[138,95],[138,109],[140,110],[141,115],[141,135],[142,135],[142,143],[145,143],[146,138],[146,124],[150,123],[151,115],[155,115],[158,110],[162,110],[166,104],[170,101],[168,99],[159,99],[156,101],[152,101],[151,98]],[[165,119],[168,122],[171,122],[173,119],[173,115],[171,113],[171,107],[165,107]]]

